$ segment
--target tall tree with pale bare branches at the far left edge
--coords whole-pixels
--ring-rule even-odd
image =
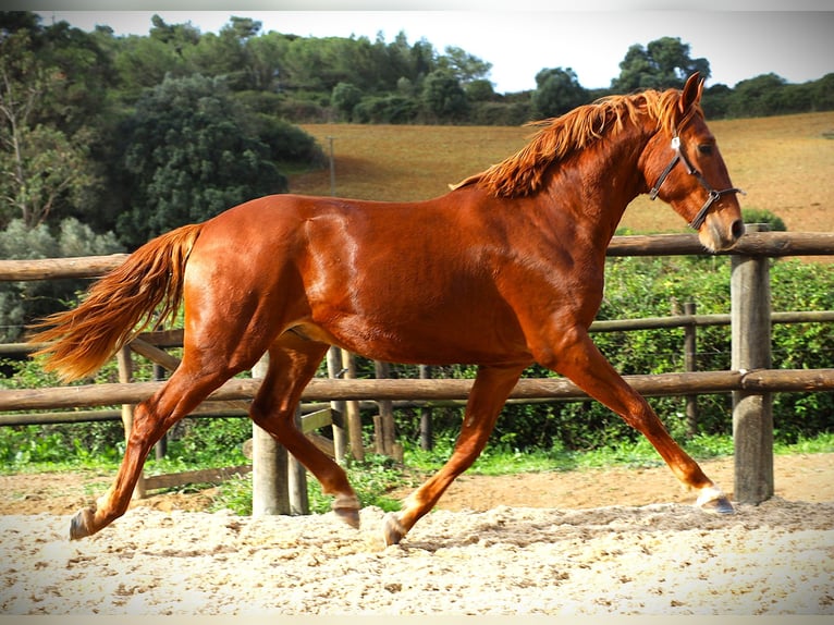
[[[35,226],[90,201],[99,180],[87,124],[96,107],[106,110],[107,85],[90,66],[107,65],[96,52],[81,30],[34,22],[0,38],[0,225]]]

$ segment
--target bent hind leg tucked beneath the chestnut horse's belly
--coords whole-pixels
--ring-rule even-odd
[[[316,476],[326,494],[335,497],[333,511],[359,527],[359,500],[342,467],[319,450],[295,426],[302,391],[330,346],[285,332],[269,348],[269,368],[249,408],[252,420],[272,434]]]

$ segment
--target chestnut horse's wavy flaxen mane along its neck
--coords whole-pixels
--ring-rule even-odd
[[[477,185],[495,197],[532,195],[542,186],[544,171],[554,162],[581,150],[604,136],[617,133],[625,120],[654,120],[658,128],[674,130],[680,100],[678,89],[648,90],[629,96],[611,96],[585,105],[560,118],[531,122],[540,130],[518,152],[453,186]],[[697,109],[700,111],[700,108]],[[687,118],[697,112],[687,111]]]

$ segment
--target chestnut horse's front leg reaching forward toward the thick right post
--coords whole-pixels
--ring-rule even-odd
[[[720,513],[732,513],[726,495],[710,480],[701,467],[669,434],[648,402],[614,370],[599,352],[586,330],[576,328],[561,334],[554,348],[537,350],[537,360],[573,380],[594,400],[601,402],[633,428],[641,432],[658,450],[680,482],[698,492],[697,505]]]

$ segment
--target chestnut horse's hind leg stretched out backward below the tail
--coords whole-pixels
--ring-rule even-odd
[[[113,486],[96,505],[81,510],[72,519],[70,537],[96,534],[122,516],[130,506],[133,490],[150,449],[176,421],[182,419],[236,371],[211,373],[194,371],[187,355],[169,381],[134,412],[133,428]]]

